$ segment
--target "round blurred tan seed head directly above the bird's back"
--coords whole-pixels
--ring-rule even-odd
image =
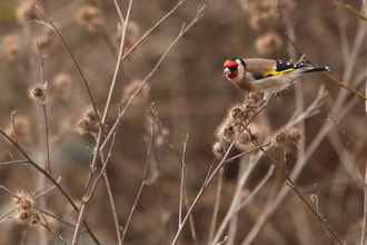
[[[282,47],[282,40],[279,35],[268,32],[256,40],[256,49],[262,55],[272,55]]]

